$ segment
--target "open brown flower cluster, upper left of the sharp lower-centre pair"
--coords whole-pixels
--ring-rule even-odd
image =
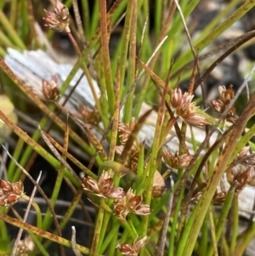
[[[103,172],[99,177],[99,181],[84,177],[82,185],[85,191],[89,191],[99,197],[119,199],[126,195],[126,192],[121,187],[113,187],[112,175],[109,172]]]

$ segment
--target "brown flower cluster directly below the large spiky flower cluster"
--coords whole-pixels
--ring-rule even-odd
[[[177,152],[173,155],[171,151],[168,151],[167,149],[163,150],[163,159],[170,168],[186,168],[190,165],[192,158],[193,156],[189,154],[178,156]]]

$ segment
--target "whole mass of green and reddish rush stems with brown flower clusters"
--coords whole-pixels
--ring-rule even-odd
[[[42,88],[44,99],[40,99],[27,88],[26,82],[14,75],[3,59],[0,60],[2,73],[13,82],[11,87],[20,88],[23,96],[43,114],[42,119],[37,120],[37,130],[30,136],[16,124],[15,115],[9,117],[13,112],[12,104],[11,107],[8,105],[10,101],[3,106],[3,98],[0,98],[0,121],[5,123],[4,128],[12,130],[19,138],[12,151],[17,162],[8,163],[5,179],[13,185],[18,180],[33,180],[27,173],[29,169],[22,167],[30,168],[36,154],[45,158],[57,171],[49,198],[40,191],[38,182],[34,183],[48,204],[45,214],[33,202],[32,195],[12,191],[11,185],[3,182],[0,188],[0,245],[2,241],[7,241],[5,244],[8,245],[0,247],[0,255],[10,253],[9,245],[12,245],[7,223],[29,234],[33,243],[29,255],[48,255],[48,247],[52,243],[59,244],[61,255],[64,255],[64,246],[71,247],[77,255],[80,255],[78,252],[89,255],[122,255],[129,252],[129,255],[139,253],[142,256],[242,255],[254,237],[255,225],[252,223],[239,236],[238,195],[246,185],[254,185],[255,177],[252,169],[244,168],[238,174],[233,174],[233,169],[243,163],[241,161],[254,161],[252,151],[246,151],[243,156],[241,152],[246,145],[250,144],[252,150],[254,147],[250,140],[255,126],[246,129],[246,123],[254,115],[255,96],[252,94],[238,117],[234,104],[241,90],[234,94],[232,88],[220,87],[219,100],[212,104],[212,108],[219,113],[216,119],[203,111],[202,106],[201,109],[196,108],[192,95],[198,65],[200,75],[207,75],[207,66],[218,63],[218,59],[224,60],[254,37],[255,33],[251,31],[229,43],[215,46],[218,37],[235,21],[241,20],[255,2],[229,1],[224,10],[200,31],[199,36],[194,41],[191,39],[192,42],[187,37],[189,33],[192,37],[195,31],[191,17],[202,1],[180,1],[182,13],[175,1],[116,0],[111,6],[105,0],[94,1],[93,6],[91,1],[81,2],[81,6],[77,6],[77,1],[65,1],[66,7],[57,3],[57,16],[43,14],[46,15],[43,22],[55,30],[47,30],[44,39],[50,41],[54,33],[61,31],[69,37],[77,54],[77,61],[60,88],[48,83],[48,88]],[[71,8],[74,9],[75,19],[71,17],[69,23],[65,11]],[[42,21],[42,17],[35,15],[36,9],[37,14],[42,14],[43,9],[50,11],[52,6],[49,3],[43,6],[40,1],[31,0],[0,3],[2,57],[9,47],[20,51],[47,48],[36,29],[36,22]],[[82,19],[78,13],[82,14]],[[182,15],[187,23],[184,23]],[[59,26],[55,19],[64,25],[67,23],[67,26]],[[185,26],[190,27],[190,31]],[[114,35],[117,39],[111,48],[110,38]],[[205,52],[211,58],[206,58]],[[94,110],[85,111],[89,125],[73,112],[70,111],[69,115],[84,129],[86,139],[69,124],[68,118],[59,117],[58,108],[64,112],[69,110],[59,107],[56,102],[65,94],[79,69],[88,78],[89,89],[94,96]],[[1,78],[4,85],[4,82],[9,82],[7,76]],[[241,88],[251,76],[252,71]],[[93,77],[99,83],[100,95],[94,88]],[[175,89],[184,80],[190,81],[186,94]],[[203,86],[201,82],[199,85]],[[13,91],[9,92],[8,88],[10,86],[3,87],[3,91],[14,106],[21,111],[28,110],[26,103],[19,103],[20,96],[12,94]],[[58,97],[49,99],[53,93]],[[197,102],[202,105],[206,100],[206,95],[203,95]],[[144,111],[145,102],[154,111]],[[6,111],[6,108],[10,110]],[[24,114],[30,115],[29,111],[24,111]],[[82,112],[79,114],[82,116]],[[150,115],[155,115],[154,120],[150,120]],[[94,122],[93,117],[99,117],[99,122]],[[61,134],[63,145],[49,135],[48,127],[52,122],[54,126],[49,129]],[[141,128],[146,125],[154,126],[150,146],[138,139]],[[193,128],[195,126],[202,128],[197,130]],[[103,134],[103,138],[96,137],[91,127],[98,134]],[[0,128],[3,129],[2,122]],[[196,133],[205,129],[207,138],[201,142]],[[212,143],[210,139],[217,130],[220,133]],[[178,139],[176,154],[165,148],[169,134]],[[44,147],[40,139],[48,147]],[[103,147],[105,141],[107,149]],[[190,148],[188,142],[191,142]],[[88,166],[69,153],[71,143],[89,156]],[[77,176],[67,160],[82,170],[83,179]],[[166,162],[169,165],[167,170]],[[98,170],[96,174],[93,168]],[[168,179],[169,173],[177,174],[176,179],[173,182],[171,178],[171,185],[165,188],[164,179]],[[228,177],[229,188],[218,191],[224,174]],[[74,196],[65,215],[59,220],[54,208],[64,183],[69,185]],[[82,202],[83,193],[93,202],[95,218]],[[14,194],[17,200],[10,194]],[[15,211],[14,217],[9,216],[9,209],[20,198],[28,202],[31,199],[37,215],[35,225],[26,224],[23,221],[25,218],[22,219]],[[219,214],[215,203],[221,205]],[[77,245],[75,237],[67,240],[61,234],[79,204],[86,221],[92,226],[89,239],[84,237],[84,244],[85,240],[90,241],[89,247]],[[27,211],[30,211],[29,206]],[[170,220],[164,223],[167,213]],[[232,226],[228,216],[232,217]],[[225,229],[228,221],[230,228]],[[156,254],[158,252],[161,254]]]

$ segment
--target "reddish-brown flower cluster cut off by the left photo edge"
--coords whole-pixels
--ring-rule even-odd
[[[18,202],[24,192],[24,186],[20,181],[10,183],[7,180],[0,179],[0,206],[10,207]]]

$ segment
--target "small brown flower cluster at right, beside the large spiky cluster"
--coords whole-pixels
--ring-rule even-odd
[[[224,110],[228,107],[230,101],[234,98],[234,90],[233,86],[230,85],[229,88],[225,88],[224,86],[218,87],[219,99],[211,100],[211,105],[214,111],[222,114]],[[235,105],[232,105],[227,114],[227,120],[230,122],[235,122]]]

